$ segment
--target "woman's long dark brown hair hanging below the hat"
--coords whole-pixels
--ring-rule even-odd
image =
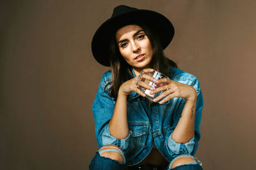
[[[161,73],[167,74],[169,71],[169,66],[177,67],[177,64],[172,60],[165,57],[163,48],[159,39],[156,36],[156,33],[150,30],[145,25],[139,25],[145,34],[148,36],[150,43],[153,48],[153,56],[150,62],[150,68],[159,71]],[[109,88],[109,94],[111,97],[117,98],[119,87],[127,80],[133,78],[132,66],[130,66],[121,55],[118,45],[116,43],[115,34],[113,34],[110,40],[110,49],[109,49],[109,59],[112,73],[112,81],[109,82],[111,87]],[[108,85],[109,85],[108,83]],[[106,85],[106,87],[108,86]],[[105,88],[106,88],[105,87]],[[106,89],[105,89],[106,90]]]

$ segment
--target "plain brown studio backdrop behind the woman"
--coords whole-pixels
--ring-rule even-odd
[[[166,55],[204,92],[196,153],[204,168],[253,169],[255,2],[1,1],[0,169],[88,169],[97,150],[93,98],[109,69],[90,43],[118,4],[172,20]]]

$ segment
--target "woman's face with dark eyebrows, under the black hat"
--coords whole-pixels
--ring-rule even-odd
[[[116,31],[116,42],[121,55],[136,72],[150,64],[153,56],[152,45],[138,25],[127,25]]]

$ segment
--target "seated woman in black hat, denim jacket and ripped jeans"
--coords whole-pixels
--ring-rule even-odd
[[[202,92],[195,76],[164,57],[173,35],[163,15],[124,5],[95,32],[93,57],[111,71],[102,76],[92,107],[100,149],[90,169],[202,169],[193,157]],[[169,78],[154,80],[147,74],[154,70]],[[141,88],[157,97],[148,99]]]

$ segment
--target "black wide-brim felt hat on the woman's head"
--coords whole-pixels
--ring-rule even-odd
[[[106,20],[95,32],[92,39],[93,57],[103,66],[110,66],[109,42],[118,29],[130,24],[146,25],[159,37],[162,48],[172,41],[174,28],[170,20],[156,11],[139,10],[120,5],[113,10],[111,18]]]

